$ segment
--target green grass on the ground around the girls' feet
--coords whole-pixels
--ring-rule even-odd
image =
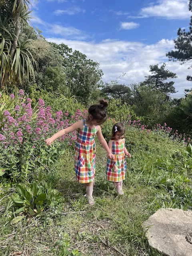
[[[69,239],[71,248],[86,256],[160,256],[149,248],[142,222],[161,207],[190,208],[192,160],[182,144],[156,134],[130,128],[126,142],[132,159],[127,160],[125,195],[120,197],[106,181],[106,153],[97,141],[93,207],[84,198],[85,187],[76,182],[70,150],[45,176],[60,190],[64,202],[48,209],[42,218],[28,217],[11,225],[12,206],[7,207],[7,202],[12,190],[4,184],[0,195],[0,255],[65,255],[59,254],[60,248],[54,250],[54,244]],[[172,158],[175,151],[181,155]]]

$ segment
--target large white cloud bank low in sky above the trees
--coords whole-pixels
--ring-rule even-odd
[[[121,82],[130,84],[141,82],[144,76],[149,75],[149,66],[166,62],[166,68],[176,72],[178,78],[174,79],[177,94],[183,94],[185,88],[191,88],[191,82],[186,81],[188,64],[169,62],[166,53],[174,48],[172,40],[162,39],[156,44],[146,45],[141,42],[118,40],[104,40],[100,43],[66,40],[62,38],[47,38],[50,42],[64,43],[73,50],[79,50],[88,58],[100,63],[104,72],[103,80],[116,80],[123,72],[126,73]]]

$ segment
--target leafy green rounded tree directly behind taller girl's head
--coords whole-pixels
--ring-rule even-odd
[[[76,98],[88,105],[100,93],[102,70],[99,63],[87,59],[85,54],[69,48],[65,44],[51,44],[62,56],[62,66],[66,74],[66,86],[71,88]]]

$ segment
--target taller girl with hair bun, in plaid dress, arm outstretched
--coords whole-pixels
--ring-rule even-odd
[[[88,110],[88,117],[86,120],[81,120],[72,124],[72,126],[60,130],[51,138],[46,140],[46,144],[50,146],[54,140],[62,135],[68,134],[77,130],[77,142],[74,148],[74,166],[76,172],[76,179],[80,183],[86,184],[86,198],[90,205],[94,204],[92,197],[94,176],[95,176],[95,158],[96,158],[96,145],[95,136],[98,139],[108,154],[108,158],[114,158],[111,153],[106,140],[104,139],[100,124],[104,123],[107,119],[108,101],[100,99],[99,104],[90,106]]]

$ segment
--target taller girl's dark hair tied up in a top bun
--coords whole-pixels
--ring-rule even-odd
[[[92,115],[93,120],[97,120],[100,124],[104,123],[107,119],[107,108],[108,101],[105,99],[100,99],[99,104],[91,105],[88,109],[88,115]],[[86,121],[89,121],[89,116]]]

